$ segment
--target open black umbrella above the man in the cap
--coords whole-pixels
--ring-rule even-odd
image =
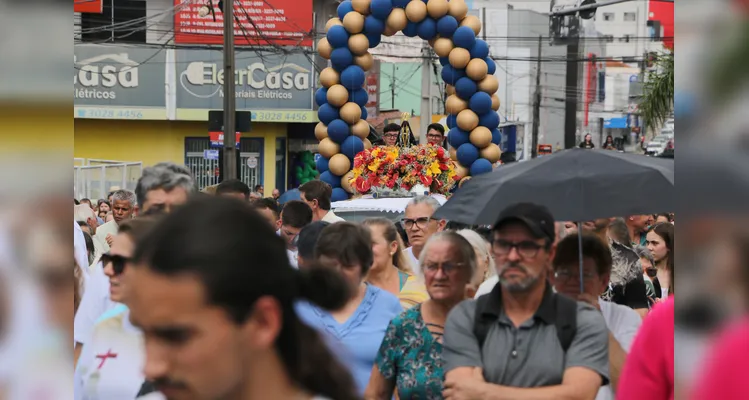
[[[469,180],[435,217],[489,225],[505,207],[520,202],[544,205],[558,221],[672,212],[674,160],[564,150]]]

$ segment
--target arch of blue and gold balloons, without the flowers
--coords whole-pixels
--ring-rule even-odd
[[[382,36],[400,31],[428,40],[440,57],[449,95],[447,140],[458,175],[491,171],[501,155],[499,82],[489,46],[476,38],[481,22],[468,15],[465,0],[344,0],[337,11],[317,44],[332,67],[320,72],[322,87],[315,93],[320,120],[315,137],[321,155],[316,166],[320,179],[333,187],[333,199],[345,200],[352,193],[348,180],[354,157],[372,146],[363,88],[365,71],[374,63],[369,49],[377,47]]]

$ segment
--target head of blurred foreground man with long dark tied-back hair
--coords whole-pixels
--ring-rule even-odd
[[[144,372],[166,397],[357,398],[294,309],[337,309],[348,286],[335,271],[292,268],[283,239],[246,202],[205,196],[176,209],[138,242],[127,278]]]

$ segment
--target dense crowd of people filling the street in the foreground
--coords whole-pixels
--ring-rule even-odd
[[[353,223],[299,191],[162,163],[76,201],[75,398],[673,399],[672,214]]]

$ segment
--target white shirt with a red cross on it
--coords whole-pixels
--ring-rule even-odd
[[[75,400],[132,400],[145,377],[143,334],[119,305],[96,323],[74,375]]]

